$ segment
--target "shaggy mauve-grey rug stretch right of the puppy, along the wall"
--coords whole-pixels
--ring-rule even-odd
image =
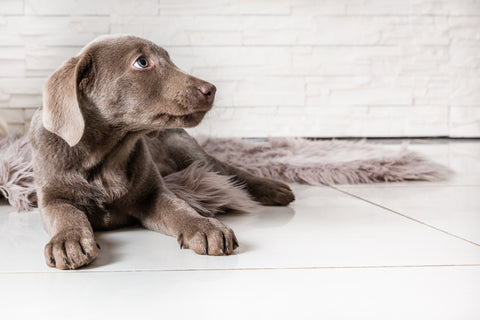
[[[200,146],[220,160],[237,166],[252,174],[288,183],[309,185],[329,184],[369,184],[378,182],[402,181],[444,181],[449,179],[454,171],[440,163],[430,160],[419,152],[408,150],[408,144],[400,145],[398,149],[389,150],[380,144],[367,143],[366,139],[350,140],[310,140],[304,138],[269,138],[266,142],[252,143],[241,138],[196,137]],[[221,150],[228,146],[227,150]],[[334,147],[332,147],[334,146]],[[336,149],[349,148],[349,153],[370,153],[363,159],[353,159],[343,162],[319,160],[317,163],[305,164],[305,161],[295,163],[294,154],[308,153],[310,157],[319,157],[315,147]],[[279,155],[278,150],[287,150]],[[295,152],[290,152],[295,150]],[[249,162],[242,159],[244,154],[257,159],[258,154],[275,157],[272,162]],[[303,159],[304,160],[304,159]]]

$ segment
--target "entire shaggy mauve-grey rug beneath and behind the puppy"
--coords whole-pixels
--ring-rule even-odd
[[[309,185],[438,181],[452,171],[400,147],[392,151],[365,141],[271,138],[266,142],[198,137],[212,156],[258,176]],[[257,204],[231,177],[194,163],[165,177],[167,187],[198,212],[254,210]],[[26,136],[0,139],[0,197],[17,211],[36,206],[30,146]]]

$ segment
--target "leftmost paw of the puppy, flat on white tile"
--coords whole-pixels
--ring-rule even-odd
[[[91,263],[99,248],[89,231],[67,229],[57,233],[45,246],[45,259],[49,267],[77,269]]]

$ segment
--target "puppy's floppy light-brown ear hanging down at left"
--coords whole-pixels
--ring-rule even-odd
[[[92,56],[85,53],[65,62],[43,89],[43,126],[71,147],[80,141],[85,129],[78,95],[93,82],[93,76]]]

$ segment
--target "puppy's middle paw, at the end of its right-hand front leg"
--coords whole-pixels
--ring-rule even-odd
[[[229,255],[238,247],[232,229],[214,218],[190,221],[177,238],[180,248],[189,248],[198,254]]]

